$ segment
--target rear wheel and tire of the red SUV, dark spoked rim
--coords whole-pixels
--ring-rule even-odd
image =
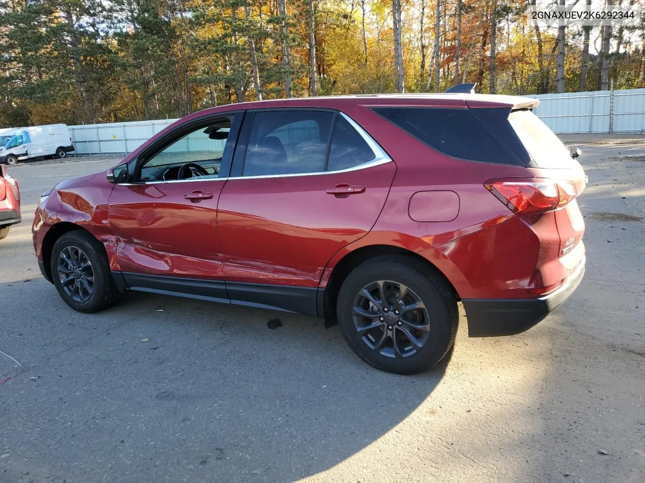
[[[379,281],[384,282],[382,292]],[[407,289],[401,299],[402,286]],[[381,305],[380,293],[388,307]],[[417,374],[439,363],[452,348],[459,319],[455,296],[442,276],[406,256],[373,258],[352,270],[339,292],[337,317],[353,352],[394,374]]]

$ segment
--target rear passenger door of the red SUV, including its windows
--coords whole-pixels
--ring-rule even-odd
[[[395,171],[344,114],[250,111],[217,212],[229,296],[318,287],[333,254],[372,229]]]

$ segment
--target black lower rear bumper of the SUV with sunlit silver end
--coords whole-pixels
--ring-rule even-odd
[[[464,299],[470,337],[511,336],[530,329],[569,298],[584,276],[586,259],[564,285],[539,299]]]

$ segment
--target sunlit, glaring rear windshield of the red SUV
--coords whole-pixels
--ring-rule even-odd
[[[508,122],[538,167],[564,168],[575,163],[567,147],[532,111],[512,111]]]

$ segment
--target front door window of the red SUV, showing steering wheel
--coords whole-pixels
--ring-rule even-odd
[[[229,139],[231,120],[220,119],[184,135],[144,160],[140,181],[217,178]],[[228,174],[228,173],[226,173]]]

